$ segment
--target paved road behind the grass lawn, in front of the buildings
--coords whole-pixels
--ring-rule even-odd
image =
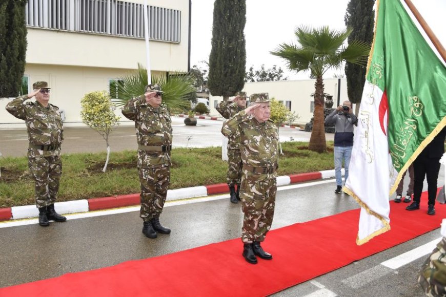
[[[221,121],[197,119],[197,126],[186,126],[184,118],[172,117],[173,147],[208,147],[221,146]],[[25,127],[25,124],[24,124]],[[0,153],[3,156],[25,156],[28,147],[28,136],[25,129],[0,129]],[[65,141],[63,154],[82,152],[105,152],[105,140],[90,128],[64,129]],[[311,133],[292,128],[280,128],[280,141],[309,141]],[[188,140],[188,138],[190,138]],[[333,140],[333,134],[326,135],[327,140]],[[110,135],[111,151],[136,150],[134,126],[127,124],[119,126]]]

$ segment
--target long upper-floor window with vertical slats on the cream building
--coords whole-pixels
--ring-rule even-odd
[[[149,38],[180,42],[181,11],[147,7]],[[118,0],[29,0],[30,27],[144,38],[144,5]]]

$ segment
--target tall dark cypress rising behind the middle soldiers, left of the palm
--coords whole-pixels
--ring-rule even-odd
[[[246,0],[215,0],[208,88],[228,99],[245,86]]]

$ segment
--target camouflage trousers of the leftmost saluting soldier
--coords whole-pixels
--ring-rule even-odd
[[[59,192],[62,161],[60,156],[28,155],[28,167],[35,181],[35,203],[38,208],[53,204]]]

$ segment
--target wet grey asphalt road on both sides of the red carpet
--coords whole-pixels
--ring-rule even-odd
[[[358,207],[351,197],[334,194],[334,185],[334,180],[328,180],[279,188],[273,229]],[[137,207],[125,209],[127,213],[82,219],[69,215],[66,223],[52,223],[47,228],[36,225],[36,220],[29,221],[30,225],[0,228],[0,287],[239,237],[242,224],[239,204],[229,203],[225,195],[220,200],[192,202],[167,204],[161,219],[173,231],[156,240],[141,234]],[[420,215],[425,214],[420,212]],[[8,223],[0,223],[0,227],[5,224]],[[425,257],[398,269],[380,263],[439,237],[436,229],[275,296],[423,296],[415,278]],[[241,247],[240,243],[240,251]]]

